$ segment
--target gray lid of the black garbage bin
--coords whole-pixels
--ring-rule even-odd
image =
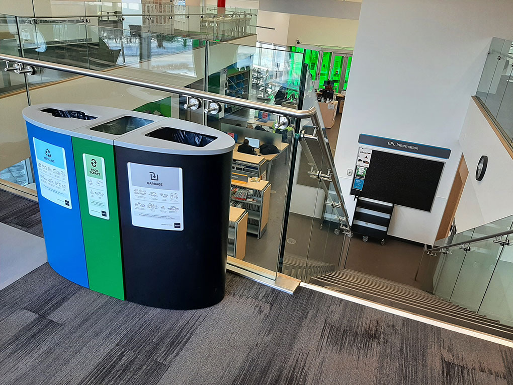
[[[163,130],[161,130],[163,129]],[[161,130],[161,131],[159,131]],[[187,135],[204,137],[208,142],[202,143],[200,146],[179,143],[169,139],[161,139],[148,135],[155,135],[155,132],[169,131],[186,131]],[[180,132],[179,132],[180,133]],[[169,153],[174,155],[218,155],[221,153],[232,151],[235,142],[228,134],[207,127],[202,124],[188,122],[185,120],[165,118],[160,122],[156,122],[145,126],[139,130],[127,133],[122,138],[114,140],[115,146],[133,148],[142,151]]]

